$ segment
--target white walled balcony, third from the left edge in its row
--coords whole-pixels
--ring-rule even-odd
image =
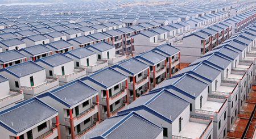
[[[86,75],[85,68],[75,68],[72,73],[66,74],[66,75],[55,75],[57,78],[59,78],[60,85],[64,85],[65,83],[68,83],[70,81],[73,81],[74,79],[84,77]]]

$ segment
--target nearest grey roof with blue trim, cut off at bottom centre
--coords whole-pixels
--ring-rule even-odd
[[[110,128],[115,127],[115,128]],[[133,127],[131,130],[125,128]],[[141,132],[141,129],[147,129]],[[125,134],[123,134],[125,132]],[[102,121],[81,138],[159,138],[163,139],[163,129],[136,112],[117,115]]]

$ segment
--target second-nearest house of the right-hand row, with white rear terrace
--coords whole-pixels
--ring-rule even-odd
[[[166,89],[142,95],[118,115],[131,111],[162,127],[163,138],[213,137],[213,120],[190,115],[189,102]]]

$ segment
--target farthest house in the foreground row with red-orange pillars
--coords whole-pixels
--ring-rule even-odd
[[[166,57],[167,78],[172,77],[180,69],[180,50],[170,44],[163,44],[153,49]]]

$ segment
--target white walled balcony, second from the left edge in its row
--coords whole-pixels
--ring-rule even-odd
[[[39,85],[35,85],[32,87],[20,86],[20,89],[23,90],[25,98],[27,98],[28,95],[30,95],[30,98],[31,98],[31,96],[38,95],[41,92],[46,92],[46,91],[53,89],[57,86],[59,86],[59,81],[57,78],[46,77],[46,81]]]

